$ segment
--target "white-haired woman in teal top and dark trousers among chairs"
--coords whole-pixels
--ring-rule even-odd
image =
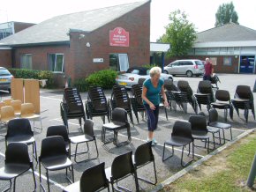
[[[142,89],[142,100],[144,107],[147,111],[147,126],[148,126],[148,137],[147,141],[152,141],[152,145],[156,144],[154,139],[154,130],[157,128],[160,96],[159,92],[162,92],[162,99],[164,106],[168,107],[168,101],[163,88],[163,80],[160,78],[161,75],[160,67],[153,67],[150,71],[150,78],[148,78]]]

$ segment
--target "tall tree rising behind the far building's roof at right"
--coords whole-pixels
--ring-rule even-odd
[[[232,2],[230,4],[220,5],[218,11],[215,14],[215,18],[215,26],[222,26],[230,22],[239,24],[237,11],[235,11],[235,7]]]

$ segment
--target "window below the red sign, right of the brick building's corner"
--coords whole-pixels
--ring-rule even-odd
[[[126,71],[129,68],[129,60],[127,54],[110,54],[109,67],[112,70]]]

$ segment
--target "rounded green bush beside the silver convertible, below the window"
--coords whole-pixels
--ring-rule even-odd
[[[99,85],[103,89],[110,89],[115,85],[117,71],[115,70],[100,70],[89,75],[86,79],[87,85]]]

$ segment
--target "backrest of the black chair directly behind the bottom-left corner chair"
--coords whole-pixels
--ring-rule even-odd
[[[5,137],[8,138],[15,136],[34,136],[28,119],[12,119],[8,122],[7,134]]]

